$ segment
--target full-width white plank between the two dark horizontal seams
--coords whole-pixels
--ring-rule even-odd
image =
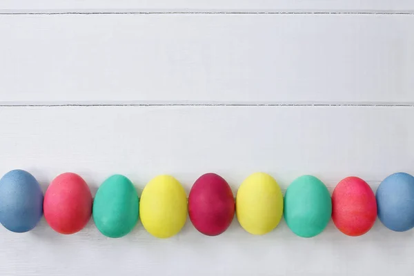
[[[0,16],[0,104],[413,104],[414,17]]]

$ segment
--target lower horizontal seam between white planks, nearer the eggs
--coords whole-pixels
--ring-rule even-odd
[[[59,107],[59,106],[79,106],[79,107],[92,107],[92,106],[360,106],[360,107],[414,107],[414,103],[401,103],[401,104],[384,104],[384,103],[257,103],[257,104],[244,104],[244,103],[51,103],[51,104],[0,104],[0,107]]]

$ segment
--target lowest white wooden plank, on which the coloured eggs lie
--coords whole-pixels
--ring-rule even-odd
[[[57,174],[77,172],[94,194],[112,173],[130,177],[139,190],[169,173],[188,193],[204,172],[221,174],[236,191],[258,170],[282,188],[308,173],[331,190],[348,175],[375,189],[392,172],[414,172],[413,117],[411,107],[1,107],[0,175],[23,168],[46,189]],[[130,235],[109,239],[93,221],[72,236],[41,221],[26,234],[0,227],[0,274],[410,275],[413,235],[377,221],[362,237],[330,224],[302,239],[282,221],[257,237],[233,221],[224,235],[205,237],[188,221],[172,239],[155,239],[140,223]]]

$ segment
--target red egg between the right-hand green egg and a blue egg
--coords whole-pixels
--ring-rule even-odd
[[[342,233],[360,236],[377,218],[377,201],[371,187],[358,177],[342,179],[332,194],[332,220]]]

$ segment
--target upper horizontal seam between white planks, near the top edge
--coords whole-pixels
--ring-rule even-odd
[[[367,12],[19,12],[1,11],[0,15],[55,15],[55,14],[386,14],[386,15],[414,15],[414,11],[367,11]]]

